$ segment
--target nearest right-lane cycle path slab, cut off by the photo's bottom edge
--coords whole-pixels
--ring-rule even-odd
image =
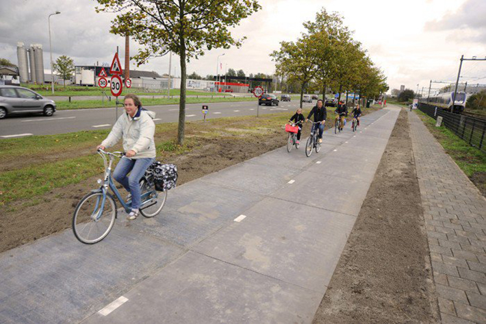
[[[83,323],[310,323],[322,294],[188,252]]]

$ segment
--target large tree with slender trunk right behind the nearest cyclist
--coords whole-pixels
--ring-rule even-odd
[[[97,12],[116,12],[111,32],[130,35],[142,48],[133,56],[138,66],[150,58],[177,53],[181,96],[177,142],[183,144],[186,121],[186,64],[205,50],[240,47],[229,29],[261,6],[257,0],[97,0]]]

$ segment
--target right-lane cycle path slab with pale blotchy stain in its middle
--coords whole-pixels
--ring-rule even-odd
[[[194,250],[324,295],[355,217],[270,197],[244,214]]]

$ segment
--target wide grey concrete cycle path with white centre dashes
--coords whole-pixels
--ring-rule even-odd
[[[1,253],[0,323],[310,323],[398,112],[179,186],[97,245],[66,230]]]

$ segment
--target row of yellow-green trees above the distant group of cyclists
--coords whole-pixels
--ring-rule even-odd
[[[296,41],[280,42],[270,56],[276,62],[277,75],[300,87],[300,107],[305,90],[354,92],[375,98],[388,90],[386,77],[373,64],[361,42],[344,25],[337,12],[322,8],[314,21],[303,23],[305,32]]]

